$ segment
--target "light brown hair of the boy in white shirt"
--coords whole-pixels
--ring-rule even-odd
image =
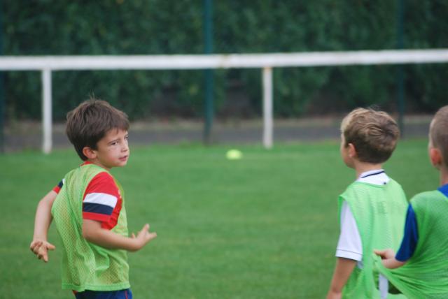
[[[342,120],[341,132],[346,147],[352,143],[359,161],[383,163],[397,145],[400,130],[386,112],[357,108]]]

